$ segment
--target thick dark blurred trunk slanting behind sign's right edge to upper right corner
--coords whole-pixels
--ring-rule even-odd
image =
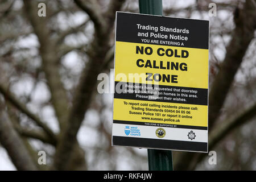
[[[255,0],[254,0],[255,2]],[[209,94],[209,131],[213,128],[214,122],[220,114],[229,88],[232,85],[234,76],[240,67],[243,56],[254,38],[256,28],[256,11],[252,1],[247,0],[243,4],[243,9],[234,12],[234,22],[236,28],[232,32],[232,39],[227,47],[225,59],[220,67]],[[196,154],[192,152],[180,152],[177,155],[175,169],[188,169]]]

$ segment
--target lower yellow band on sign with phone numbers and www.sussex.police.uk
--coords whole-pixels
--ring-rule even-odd
[[[208,106],[114,98],[114,120],[172,125],[208,125]]]

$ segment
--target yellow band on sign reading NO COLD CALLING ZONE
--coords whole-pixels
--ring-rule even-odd
[[[208,49],[116,42],[115,81],[208,88]]]

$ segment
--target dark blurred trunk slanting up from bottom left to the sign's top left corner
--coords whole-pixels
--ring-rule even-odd
[[[123,2],[124,1],[118,1],[118,6],[113,6],[117,9],[113,9],[112,7],[113,14],[115,14],[115,11],[121,8]],[[109,15],[109,17],[112,16],[114,15]],[[114,19],[111,20],[114,21]],[[106,20],[102,19],[102,21]],[[109,30],[112,26],[113,22],[109,22],[107,25],[107,30]],[[105,28],[106,27],[104,27],[103,30],[105,30]],[[73,98],[73,107],[69,113],[68,126],[65,129],[64,134],[61,135],[60,143],[57,146],[53,169],[62,170],[67,168],[65,166],[65,162],[71,155],[77,132],[84,119],[85,112],[89,107],[90,100],[92,100],[93,97],[93,91],[97,83],[97,76],[103,69],[103,61],[105,60],[106,53],[110,49],[108,44],[109,37],[109,31],[105,31],[104,35],[96,34],[92,44],[90,45],[88,50],[88,56],[90,59],[80,77],[80,82],[77,86],[75,97]]]

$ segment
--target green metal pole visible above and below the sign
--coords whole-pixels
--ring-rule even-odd
[[[139,13],[163,15],[162,0],[139,0]],[[148,149],[148,169],[150,171],[172,171],[172,151]]]

